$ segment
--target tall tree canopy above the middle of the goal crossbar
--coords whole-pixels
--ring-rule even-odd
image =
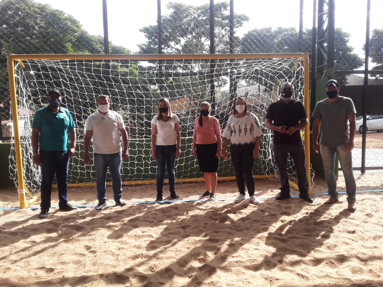
[[[165,54],[208,54],[210,52],[210,6],[186,5],[169,2],[172,10],[168,15],[162,15],[162,52]],[[229,52],[229,3],[214,4],[214,45],[216,53]],[[249,17],[235,14],[234,29],[242,27]],[[139,44],[140,53],[158,53],[157,25],[141,28],[147,42]],[[234,41],[238,41],[236,37]]]

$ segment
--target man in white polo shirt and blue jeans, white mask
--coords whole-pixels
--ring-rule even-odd
[[[112,177],[113,197],[116,205],[123,206],[121,201],[122,180],[121,162],[128,158],[128,133],[120,114],[111,111],[110,99],[100,95],[96,99],[97,111],[91,114],[85,124],[84,161],[90,164],[89,146],[93,137],[93,161],[96,168],[96,188],[98,204],[96,210],[101,210],[106,205],[106,171]],[[120,135],[124,149],[121,152]]]

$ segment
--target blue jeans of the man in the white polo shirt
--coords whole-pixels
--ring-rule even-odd
[[[93,161],[96,168],[96,189],[99,203],[106,201],[106,171],[112,176],[113,198],[116,200],[122,197],[121,166],[122,153],[101,154],[93,153]]]

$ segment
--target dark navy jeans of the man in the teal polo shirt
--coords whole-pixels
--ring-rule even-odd
[[[51,207],[51,192],[54,174],[56,173],[57,189],[59,191],[59,207],[67,204],[68,188],[68,151],[45,151],[40,150],[41,158],[41,210],[49,210]]]

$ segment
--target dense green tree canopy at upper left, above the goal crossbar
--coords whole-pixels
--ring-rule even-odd
[[[0,2],[0,39],[7,54],[103,54],[102,36],[90,35],[73,16],[33,0]],[[130,51],[110,42],[110,53]]]

